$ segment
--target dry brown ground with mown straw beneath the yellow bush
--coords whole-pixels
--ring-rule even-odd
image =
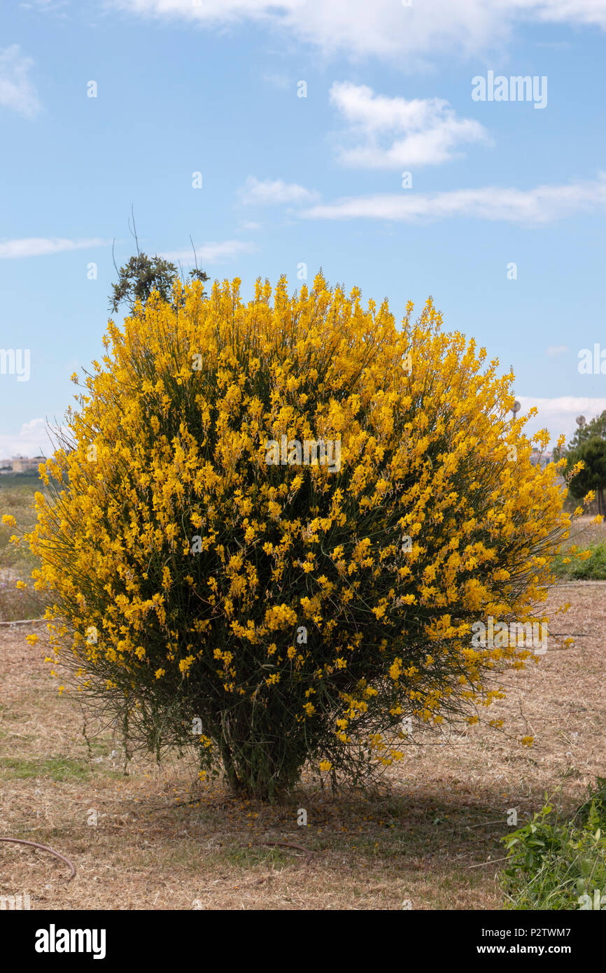
[[[288,804],[234,800],[184,762],[160,768],[92,738],[78,701],[57,695],[42,625],[0,627],[0,895],[32,909],[474,909],[503,906],[499,839],[546,794],[573,809],[605,775],[606,583],[558,586],[571,603],[538,666],[507,676],[505,733],[487,725],[407,748],[373,794],[333,798],[303,782]],[[41,642],[26,643],[37,631]],[[529,748],[519,740],[534,737]],[[299,826],[299,809],[307,825]],[[96,822],[96,823],[95,823]],[[272,847],[276,842],[284,845]]]

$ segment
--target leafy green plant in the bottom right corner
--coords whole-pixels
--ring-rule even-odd
[[[606,778],[597,777],[572,819],[561,820],[548,802],[503,838],[508,866],[500,883],[507,908],[576,910],[595,903],[600,908],[601,898],[606,901],[605,824]]]

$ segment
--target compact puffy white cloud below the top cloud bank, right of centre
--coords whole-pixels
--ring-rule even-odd
[[[479,122],[457,118],[444,98],[390,98],[350,82],[335,82],[330,97],[349,123],[346,140],[358,143],[341,145],[346,165],[437,165],[454,159],[462,143],[488,141]]]

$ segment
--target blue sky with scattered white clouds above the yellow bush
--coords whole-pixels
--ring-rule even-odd
[[[131,205],[141,249],[187,270],[191,235],[247,295],[302,264],[397,317],[431,294],[570,435],[606,409],[579,371],[606,359],[605,54],[606,0],[5,5],[0,348],[30,366],[4,358],[0,458],[49,449],[100,356]],[[490,72],[507,101],[472,96]]]

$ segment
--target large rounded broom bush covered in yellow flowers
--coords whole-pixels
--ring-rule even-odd
[[[512,377],[411,309],[176,284],[110,321],[43,471],[26,540],[68,686],[257,797],[476,722],[533,654],[471,627],[544,617],[563,492]]]

